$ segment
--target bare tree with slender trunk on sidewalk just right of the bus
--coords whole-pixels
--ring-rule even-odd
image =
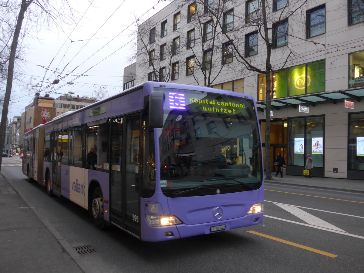
[[[202,0],[201,0],[202,1]],[[233,0],[234,2],[234,0]],[[236,2],[236,1],[235,1]],[[265,75],[265,99],[266,99],[266,113],[265,113],[265,179],[272,179],[270,168],[270,111],[271,111],[271,99],[272,99],[272,75],[275,72],[282,70],[288,60],[292,58],[293,51],[288,44],[288,19],[294,21],[294,16],[301,16],[302,8],[306,4],[307,0],[292,0],[281,1],[282,7],[277,9],[273,8],[272,1],[255,0],[247,2],[247,13],[245,18],[234,15],[234,19],[237,19],[237,23],[234,20],[234,28],[231,31],[225,31],[224,35],[231,41],[234,48],[234,57],[240,62],[244,70],[254,71],[259,74]],[[273,12],[275,11],[275,12]],[[223,22],[221,28],[223,28]],[[251,55],[247,50],[246,41],[242,39],[249,32],[256,31],[257,38],[260,37],[265,44],[264,54],[265,62],[259,62],[255,58],[251,58]],[[273,65],[273,60],[278,56],[272,56],[272,49],[280,46],[277,43],[281,43],[284,47],[279,56],[279,59],[284,59],[283,63]],[[250,50],[254,50],[250,48]],[[285,55],[284,55],[285,54]],[[244,71],[243,70],[243,71]]]

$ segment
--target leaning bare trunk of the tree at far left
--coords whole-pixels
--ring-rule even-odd
[[[32,2],[33,2],[33,0],[28,0],[28,1],[21,0],[20,11],[19,11],[18,18],[16,21],[16,26],[15,26],[15,30],[14,30],[14,34],[13,34],[13,40],[11,43],[10,55],[9,55],[9,66],[8,66],[8,78],[7,78],[7,82],[6,82],[3,112],[1,114],[0,147],[4,147],[6,122],[8,119],[8,107],[9,107],[11,89],[13,86],[15,55],[16,55],[16,49],[18,46],[18,39],[19,39],[19,35],[20,35],[21,25],[23,24],[24,14]],[[0,171],[1,171],[1,161],[2,161],[2,157],[0,158]]]

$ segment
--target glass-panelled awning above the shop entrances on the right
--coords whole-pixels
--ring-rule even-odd
[[[351,88],[346,90],[337,90],[329,92],[319,92],[312,94],[297,95],[285,98],[271,100],[272,109],[280,110],[280,108],[297,108],[298,105],[316,106],[316,104],[341,102],[344,99],[351,99],[360,102],[364,99],[364,88]],[[266,100],[257,102],[258,110],[263,111],[266,108]]]

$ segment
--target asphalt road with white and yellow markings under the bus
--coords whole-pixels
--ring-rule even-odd
[[[86,210],[48,197],[17,164],[3,160],[1,173],[21,197],[72,247],[96,251],[77,254],[85,272],[364,272],[364,194],[267,183],[262,225],[150,243],[98,230]]]

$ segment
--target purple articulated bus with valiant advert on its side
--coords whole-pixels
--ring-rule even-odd
[[[24,135],[23,173],[87,209],[96,226],[143,241],[263,220],[262,146],[254,99],[145,82]]]

